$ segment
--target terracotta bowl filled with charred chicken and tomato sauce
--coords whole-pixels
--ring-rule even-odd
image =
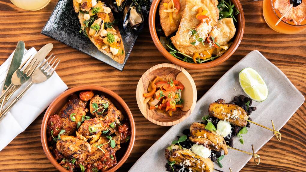
[[[113,91],[77,86],[50,104],[41,141],[59,171],[113,172],[132,151],[135,123],[127,104]]]

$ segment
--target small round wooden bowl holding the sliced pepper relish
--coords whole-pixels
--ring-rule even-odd
[[[165,81],[177,80],[184,85],[184,90],[181,93],[184,108],[178,108],[173,112],[172,117],[166,112],[158,113],[156,110],[150,110],[149,104],[144,103],[143,93],[148,92],[150,81],[152,82],[156,76],[163,78]],[[196,97],[196,84],[192,77],[184,68],[175,64],[164,63],[153,66],[141,76],[136,89],[136,100],[142,115],[160,126],[172,126],[184,121],[195,108]]]

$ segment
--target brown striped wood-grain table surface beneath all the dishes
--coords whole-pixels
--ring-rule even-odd
[[[306,96],[306,31],[295,35],[279,34],[265,23],[262,1],[241,2],[245,15],[245,31],[233,56],[214,68],[187,69],[196,83],[198,98],[241,58],[256,49],[280,68]],[[0,1],[0,64],[13,52],[19,40],[25,42],[27,49],[40,49],[47,43],[53,43],[52,53],[61,60],[57,73],[69,88],[93,84],[106,87],[121,96],[131,109],[136,123],[134,148],[129,159],[118,170],[127,171],[169,129],[144,118],[138,109],[135,93],[137,82],[147,69],[156,64],[170,62],[156,49],[148,26],[138,37],[122,72],[40,34],[56,3],[57,0],[51,0],[42,10],[25,11],[14,6],[9,0]],[[0,152],[0,171],[57,171],[46,158],[40,142],[43,115]],[[13,129],[12,126],[7,130]],[[305,102],[280,132],[282,141],[273,137],[257,152],[261,156],[260,165],[256,166],[250,160],[241,171],[305,171]]]

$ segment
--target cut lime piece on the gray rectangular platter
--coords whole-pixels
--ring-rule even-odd
[[[244,93],[252,100],[262,102],[267,99],[268,87],[256,70],[242,69],[239,73],[239,82]]]

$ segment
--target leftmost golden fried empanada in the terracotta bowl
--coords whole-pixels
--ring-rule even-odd
[[[166,37],[176,31],[178,29],[178,26],[180,25],[183,11],[186,5],[186,0],[180,0],[179,2],[181,8],[180,10],[178,10],[177,13],[165,11],[167,10],[167,7],[165,5],[171,5],[171,0],[162,0],[159,4],[160,25],[162,26],[162,30],[164,31]],[[170,17],[172,17],[172,19]]]

